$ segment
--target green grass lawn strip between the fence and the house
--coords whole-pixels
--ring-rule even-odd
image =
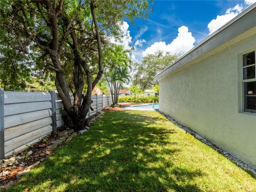
[[[11,191],[256,191],[256,180],[155,111],[107,111]]]

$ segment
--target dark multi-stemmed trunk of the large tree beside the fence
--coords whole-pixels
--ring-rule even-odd
[[[63,102],[63,106],[65,110],[67,111],[67,114],[69,118],[71,119],[72,123],[74,124],[74,129],[81,130],[86,126],[86,115],[90,110],[91,107],[91,96],[92,96],[92,90],[95,87],[95,85],[99,82],[102,74],[103,74],[103,68],[102,68],[102,50],[101,50],[101,41],[100,41],[100,34],[99,34],[99,28],[98,24],[95,18],[95,13],[94,13],[94,1],[91,2],[91,15],[92,15],[92,20],[95,26],[95,33],[97,37],[97,46],[98,46],[98,66],[99,66],[99,71],[97,74],[97,77],[92,81],[92,73],[89,69],[89,66],[87,66],[87,63],[80,57],[78,48],[77,48],[77,38],[76,34],[74,31],[71,31],[70,35],[73,40],[73,53],[74,53],[74,68],[76,71],[74,72],[74,84],[75,84],[75,93],[74,93],[74,104],[71,105],[71,99],[70,95],[68,92],[68,86],[66,84],[66,79],[65,76],[62,75],[63,73],[60,71],[57,71],[56,76],[57,76],[57,90],[60,94],[60,97]],[[56,67],[55,67],[56,68]],[[57,68],[58,69],[58,68]],[[83,70],[86,73],[86,78],[87,78],[87,91],[86,95],[82,101],[82,90],[84,87],[84,82],[83,82]]]

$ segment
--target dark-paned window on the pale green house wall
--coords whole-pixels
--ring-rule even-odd
[[[256,113],[255,51],[243,55],[243,108]]]

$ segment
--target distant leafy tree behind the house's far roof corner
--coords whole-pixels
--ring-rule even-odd
[[[141,89],[152,87],[156,84],[154,76],[171,65],[178,58],[178,54],[172,55],[170,52],[158,51],[154,54],[147,54],[141,62],[134,65],[133,85],[138,85]]]

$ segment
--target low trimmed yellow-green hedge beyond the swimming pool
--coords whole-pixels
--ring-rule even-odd
[[[136,97],[136,102],[138,103],[158,103],[158,96],[144,96],[139,95]],[[118,102],[134,102],[134,95],[126,95],[123,97],[118,97]]]

